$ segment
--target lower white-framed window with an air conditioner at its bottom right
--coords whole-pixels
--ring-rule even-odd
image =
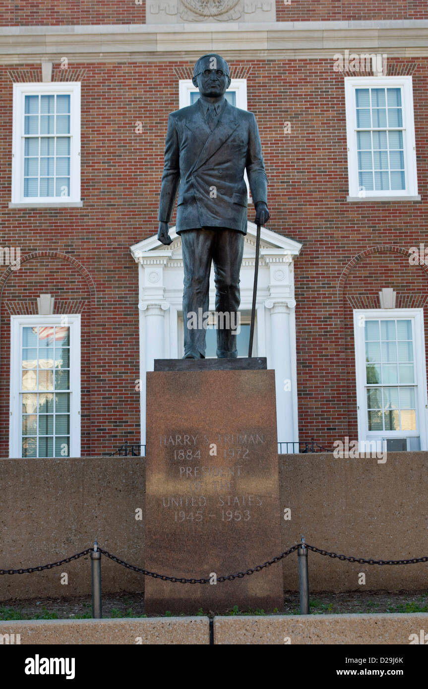
[[[354,310],[358,440],[427,449],[422,309]]]

